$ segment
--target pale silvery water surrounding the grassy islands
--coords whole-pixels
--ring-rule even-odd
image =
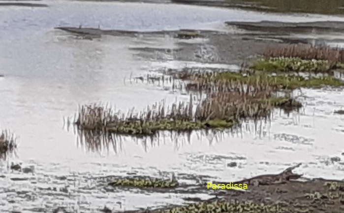
[[[4,74],[0,77],[0,129],[12,130],[20,142],[17,156],[0,162],[1,212],[49,212],[58,207],[98,212],[104,205],[129,210],[178,204],[182,197],[194,196],[133,189],[106,191],[94,179],[127,173],[160,177],[159,171],[176,172],[182,182],[188,182],[178,176],[182,173],[234,181],[304,162],[298,172],[308,178],[344,178],[343,163],[331,160],[337,156],[344,161],[344,117],[333,114],[334,109],[344,107],[343,89],[303,89],[304,111],[289,116],[276,111],[271,123],[259,124],[260,135],[255,133],[254,124],[247,123],[242,132],[220,138],[204,133],[179,136],[178,140],[167,135],[153,142],[124,137],[108,149],[90,150],[72,131],[63,129],[63,117],[73,115],[79,104],[110,103],[125,111],[132,107],[141,110],[162,99],[172,102],[176,96],[188,99],[152,85],[130,84],[124,79],[131,73],[137,76],[157,67],[234,65],[173,61],[169,53],[166,58],[140,60],[132,49],[178,48],[177,39],[170,37],[102,36],[90,41],[54,30],[57,26],[99,25],[119,30],[225,31],[224,21],[344,18],[267,15],[177,4],[42,2],[48,7],[0,7],[0,74]],[[34,174],[7,169],[7,164],[18,161],[33,165]],[[238,167],[228,167],[231,162]]]

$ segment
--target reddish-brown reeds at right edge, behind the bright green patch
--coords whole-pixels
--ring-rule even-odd
[[[331,63],[344,63],[344,49],[329,46],[310,45],[268,46],[262,54],[266,57],[292,57],[304,60],[326,60]]]

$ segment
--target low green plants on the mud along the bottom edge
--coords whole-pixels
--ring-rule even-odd
[[[256,204],[252,202],[201,202],[168,210],[157,210],[154,213],[286,213],[278,205]]]

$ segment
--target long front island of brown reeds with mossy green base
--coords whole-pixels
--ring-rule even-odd
[[[158,106],[139,113],[114,113],[103,106],[81,106],[75,124],[83,130],[147,136],[157,131],[189,132],[209,128],[231,128],[242,119],[266,117],[274,107],[298,108],[301,104],[290,97],[275,97],[265,87],[242,88],[210,95],[195,106],[188,103]]]

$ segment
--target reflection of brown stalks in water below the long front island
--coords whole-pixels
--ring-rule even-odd
[[[228,139],[244,139],[246,136],[255,139],[264,139],[271,136],[271,119],[274,114],[281,114],[282,110],[275,110],[270,117],[259,120],[246,120],[240,125],[230,129],[203,129],[197,131],[159,131],[152,136],[129,136],[109,133],[101,130],[82,130],[72,125],[65,126],[67,131],[73,131],[76,136],[76,146],[89,152],[106,154],[125,153],[127,143],[135,144],[145,153],[158,146],[172,145],[173,151],[179,151],[182,147],[199,143],[202,146],[214,146]],[[297,116],[285,113],[286,116]],[[293,120],[296,118],[293,118]],[[205,143],[204,143],[205,142]],[[130,150],[129,150],[130,151]]]

